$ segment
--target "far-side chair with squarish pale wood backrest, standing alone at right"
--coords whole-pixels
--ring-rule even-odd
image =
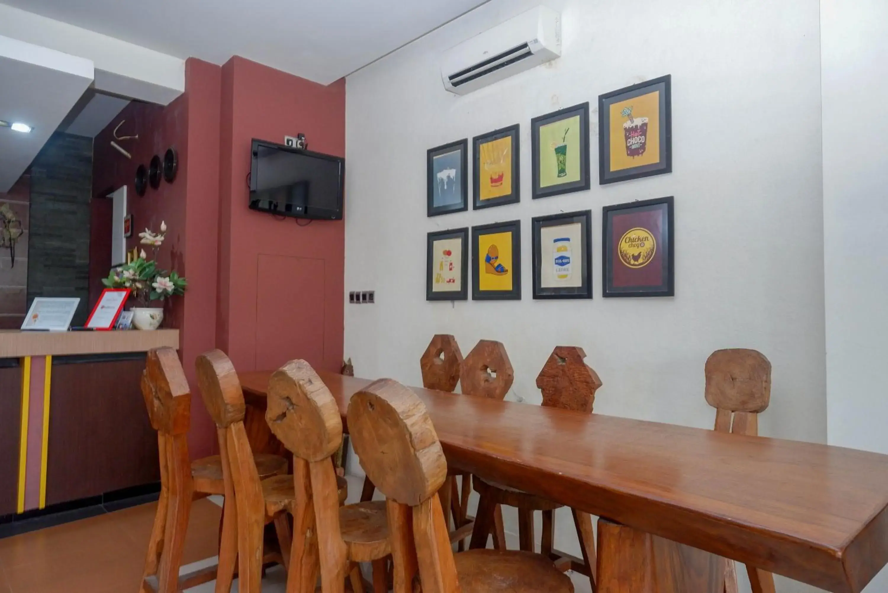
[[[771,362],[756,350],[731,348],[706,360],[706,402],[719,432],[758,436],[758,414],[771,402]],[[752,593],[774,593],[772,573],[746,565]],[[737,593],[733,560],[725,559],[725,593]]]

